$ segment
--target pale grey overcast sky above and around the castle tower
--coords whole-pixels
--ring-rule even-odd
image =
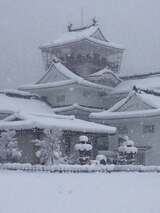
[[[0,88],[37,81],[44,72],[38,46],[68,22],[97,17],[106,37],[126,48],[122,73],[160,71],[159,0],[0,0]]]

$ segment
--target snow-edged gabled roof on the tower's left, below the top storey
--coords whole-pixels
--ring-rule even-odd
[[[53,72],[58,70],[58,72],[62,73],[67,77],[66,80],[54,81]],[[36,83],[31,85],[21,86],[21,90],[30,90],[30,89],[41,89],[41,88],[54,88],[54,87],[62,87],[70,84],[79,84],[87,87],[93,87],[97,89],[103,89],[107,91],[111,91],[112,88],[109,86],[104,86],[101,84],[96,84],[90,81],[85,80],[84,78],[74,74],[67,67],[65,67],[60,61],[53,61],[47,73]]]

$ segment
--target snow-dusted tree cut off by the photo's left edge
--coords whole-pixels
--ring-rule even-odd
[[[7,130],[0,136],[0,160],[2,162],[17,162],[22,157],[22,152],[18,148],[16,131]]]

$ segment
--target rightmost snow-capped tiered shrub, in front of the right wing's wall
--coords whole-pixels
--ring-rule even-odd
[[[138,149],[134,145],[134,141],[130,140],[128,136],[123,137],[123,142],[118,147],[119,163],[120,164],[134,164]]]

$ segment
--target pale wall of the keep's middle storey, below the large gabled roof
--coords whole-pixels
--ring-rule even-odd
[[[95,108],[103,107],[102,97],[99,95],[99,90],[95,88],[73,84],[57,88],[34,89],[30,91],[46,97],[53,107],[72,105],[75,103]],[[88,94],[84,95],[84,92]],[[56,97],[62,95],[65,95],[65,100],[61,103],[57,103]]]

